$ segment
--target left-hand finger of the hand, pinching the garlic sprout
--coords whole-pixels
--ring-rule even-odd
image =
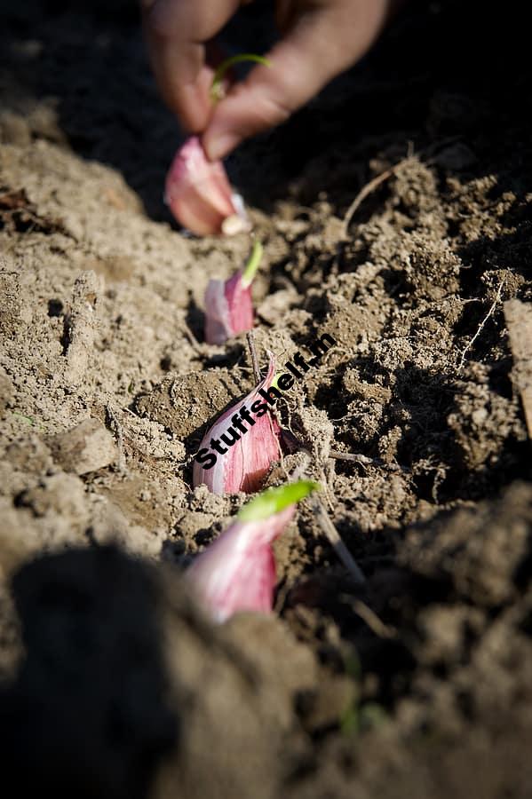
[[[191,132],[204,131],[212,107],[212,70],[204,42],[216,36],[239,0],[141,0],[147,44],[163,98]]]

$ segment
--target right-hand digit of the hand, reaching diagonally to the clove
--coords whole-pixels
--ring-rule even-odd
[[[308,5],[308,4],[307,4]],[[388,0],[311,3],[258,66],[221,100],[210,117],[203,146],[223,158],[243,138],[284,122],[322,87],[360,59],[384,25]]]

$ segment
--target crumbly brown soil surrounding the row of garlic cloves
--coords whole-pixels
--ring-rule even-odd
[[[192,490],[190,464],[253,377],[244,337],[203,342],[202,297],[249,240],[195,240],[163,206],[179,131],[133,3],[3,7],[2,794],[532,796],[532,472],[503,312],[532,301],[528,26],[465,5],[409,4],[229,161],[265,244],[262,363],[337,339],[282,417],[367,583],[303,503],[277,614],[217,629],[180,573],[245,497]],[[264,49],[267,6],[226,40]]]

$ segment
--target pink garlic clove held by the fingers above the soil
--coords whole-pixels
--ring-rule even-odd
[[[221,161],[207,160],[197,136],[187,139],[171,163],[164,201],[181,225],[199,236],[249,230],[242,200]]]

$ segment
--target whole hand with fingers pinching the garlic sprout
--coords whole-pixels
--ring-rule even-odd
[[[211,161],[242,139],[284,122],[375,42],[401,0],[277,0],[281,38],[216,107],[209,97],[212,40],[241,0],[141,0],[163,98]]]

